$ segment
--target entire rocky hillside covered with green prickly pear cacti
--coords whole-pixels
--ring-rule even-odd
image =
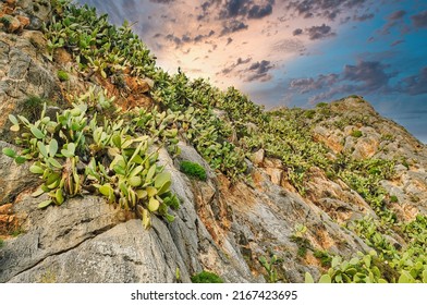
[[[0,282],[427,282],[427,148],[363,97],[265,111],[66,0],[0,62]]]

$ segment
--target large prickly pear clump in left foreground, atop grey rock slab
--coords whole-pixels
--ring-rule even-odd
[[[33,161],[30,172],[44,181],[33,195],[49,195],[39,208],[61,205],[86,190],[134,210],[145,228],[150,227],[151,213],[173,221],[170,208],[176,209],[179,199],[171,193],[170,173],[157,164],[158,152],[152,149],[154,144],[161,145],[160,139],[138,133],[121,115],[100,120],[97,114],[86,103],[74,103],[54,120],[46,115],[45,105],[34,123],[11,114],[11,131],[21,132],[16,144],[23,149],[19,154],[4,148],[3,154],[17,163]],[[163,132],[174,139],[174,130]]]

